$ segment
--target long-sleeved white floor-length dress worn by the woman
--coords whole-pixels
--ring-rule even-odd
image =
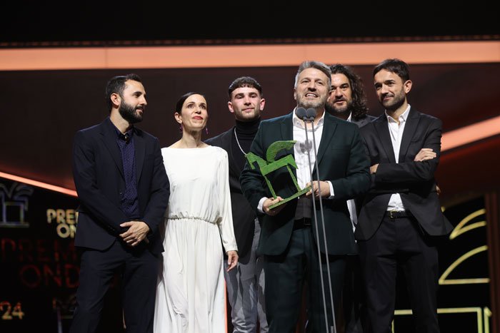
[[[170,181],[155,333],[226,332],[223,249],[237,250],[225,150],[162,148]]]

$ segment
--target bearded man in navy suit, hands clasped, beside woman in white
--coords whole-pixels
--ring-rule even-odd
[[[158,231],[169,200],[159,141],[134,126],[146,92],[135,74],[107,83],[110,115],[74,138],[73,171],[79,195],[75,245],[82,250],[71,333],[95,332],[104,294],[115,272],[122,277],[127,332],[153,332]]]

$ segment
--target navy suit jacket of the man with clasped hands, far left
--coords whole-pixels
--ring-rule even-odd
[[[158,254],[163,251],[158,226],[169,202],[169,179],[157,138],[135,128],[134,145],[139,213],[150,229],[149,250]],[[120,206],[124,170],[111,120],[79,130],[73,149],[74,183],[80,201],[75,245],[106,250],[125,231],[120,224],[129,221]]]

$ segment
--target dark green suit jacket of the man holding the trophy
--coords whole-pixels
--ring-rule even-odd
[[[266,150],[278,140],[293,140],[293,113],[286,116],[261,121],[251,152],[260,156],[266,155]],[[319,138],[316,138],[318,140]],[[319,140],[318,140],[319,141]],[[317,144],[317,143],[316,143]],[[294,155],[294,149],[281,150],[275,160],[286,155]],[[264,158],[265,159],[265,158]],[[356,253],[356,243],[349,218],[346,200],[356,198],[369,189],[369,160],[364,152],[359,128],[353,123],[342,121],[324,115],[324,128],[319,141],[318,166],[321,180],[331,181],[334,188],[334,198],[324,199],[324,227],[326,230],[326,243],[330,255],[345,255]],[[296,175],[293,167],[291,169]],[[313,170],[313,179],[316,180],[316,168]],[[288,170],[281,168],[268,175],[276,195],[288,198],[297,192]],[[264,177],[258,168],[252,170],[246,163],[240,177],[241,189],[250,201],[254,210],[257,210],[259,200],[271,197]],[[262,219],[261,237],[259,241],[259,254],[280,255],[286,250],[294,227],[294,215],[297,200],[286,203],[286,207],[275,216],[264,215]],[[324,232],[321,226],[320,206],[316,205],[319,222],[319,234],[312,227],[316,242],[319,242],[322,252],[324,249]],[[314,216],[314,215],[312,215]]]

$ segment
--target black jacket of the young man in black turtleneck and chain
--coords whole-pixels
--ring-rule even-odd
[[[234,235],[236,237],[236,244],[238,245],[239,262],[247,264],[249,260],[248,254],[254,240],[254,221],[256,215],[248,200],[246,200],[243,193],[241,193],[241,185],[239,183],[241,169],[234,160],[232,150],[234,140],[233,132],[234,127],[214,138],[206,140],[205,143],[216,145],[227,152],[229,158],[229,190],[231,191]]]

